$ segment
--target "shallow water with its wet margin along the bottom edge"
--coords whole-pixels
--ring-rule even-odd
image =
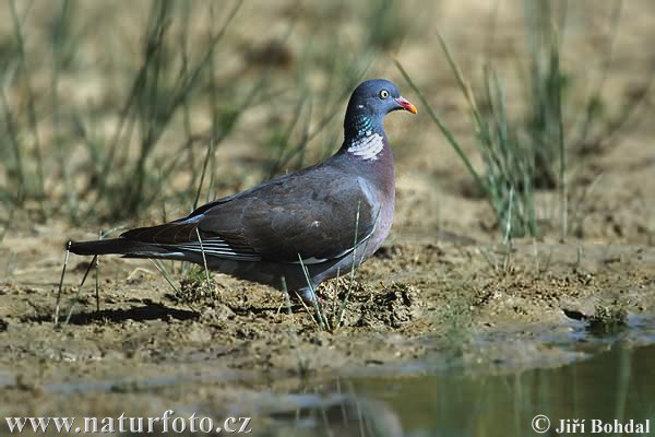
[[[144,411],[165,405],[180,415],[227,411],[251,416],[253,436],[538,435],[533,426],[544,435],[655,433],[655,316],[630,316],[612,330],[571,321],[462,339],[467,345],[428,358],[344,369],[347,376],[333,379],[310,375],[288,390],[275,379],[216,370],[202,354],[193,371],[155,368],[132,379],[67,379],[43,390],[100,405],[110,393],[133,394],[145,401]],[[0,386],[12,383],[10,374],[0,374]],[[226,391],[230,383],[240,389]],[[183,404],[167,400],[200,390],[203,397]]]

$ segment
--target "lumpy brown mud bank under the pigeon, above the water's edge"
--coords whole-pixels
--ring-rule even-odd
[[[25,236],[25,246],[31,238],[39,247],[48,239]],[[86,262],[71,260],[62,320]],[[0,288],[1,403],[16,414],[55,411],[62,397],[95,399],[90,412],[126,402],[140,411],[142,397],[155,394],[148,405],[195,402],[216,387],[234,404],[236,392],[255,397],[260,385],[300,390],[307,378],[428,371],[451,357],[513,370],[557,365],[572,357],[535,332],[565,333],[595,316],[655,305],[655,251],[646,247],[522,241],[508,252],[436,241],[385,246],[352,286],[342,279],[322,287],[332,327],[352,291],[336,330],[321,330],[312,310],[265,286],[214,275],[211,293],[201,281],[198,295],[180,296],[152,264],[116,258],[102,261],[100,310],[85,287],[70,322],[56,328],[49,281],[60,265],[38,268],[43,275],[17,270]],[[485,335],[496,340],[483,345]],[[214,389],[204,393],[206,383]],[[15,399],[32,406],[11,406]]]

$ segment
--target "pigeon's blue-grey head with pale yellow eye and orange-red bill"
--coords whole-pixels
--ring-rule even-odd
[[[403,98],[398,88],[385,79],[371,79],[355,88],[344,128],[349,137],[359,137],[366,131],[381,131],[384,116],[404,109],[416,114],[416,106]]]

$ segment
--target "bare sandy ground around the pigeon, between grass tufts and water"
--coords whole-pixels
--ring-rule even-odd
[[[580,54],[593,52],[608,11],[584,14],[592,2],[582,3],[571,15],[571,49],[564,54],[570,68],[585,76],[593,75],[597,59],[585,61]],[[485,32],[469,23],[487,20],[492,8],[461,4],[443,2],[430,14],[456,47],[463,69],[475,76],[487,46]],[[519,2],[500,4],[492,55],[502,61],[520,47],[523,28]],[[257,24],[260,19],[252,16],[245,20]],[[608,102],[643,86],[655,62],[650,52],[633,49],[652,44],[653,4],[627,2],[621,23]],[[593,24],[597,33],[588,32]],[[437,47],[436,28],[421,26],[425,32],[406,38],[400,59],[473,150],[465,104]],[[378,60],[372,70],[371,75],[393,79],[416,99],[389,60]],[[652,103],[648,97],[645,114],[652,114]],[[62,403],[76,405],[78,414],[98,415],[146,413],[167,402],[216,415],[270,413],[275,401],[266,402],[262,390],[298,392],[307,390],[307,378],[310,387],[320,387],[335,376],[393,374],[413,364],[425,370],[440,354],[500,368],[569,359],[529,332],[655,312],[655,129],[647,115],[642,117],[602,150],[575,158],[565,238],[557,222],[557,196],[545,192],[539,194],[544,236],[515,240],[508,249],[498,245],[488,204],[471,194],[471,178],[426,111],[419,107],[416,118],[394,114],[386,122],[397,160],[394,228],[356,273],[336,330],[321,331],[307,310],[296,302],[289,307],[265,286],[215,274],[209,292],[201,281],[181,298],[152,263],[111,257],[100,262],[100,310],[92,270],[69,323],[56,327],[63,244],[94,238],[98,224],[73,227],[58,216],[35,222],[20,211],[0,250],[0,416],[55,414]],[[247,139],[237,134],[222,145],[217,165],[226,170],[257,166],[251,157],[257,147]],[[238,151],[230,149],[235,145]],[[226,182],[219,191],[235,188],[245,187]],[[70,259],[62,320],[88,261]],[[182,275],[172,279],[179,287]],[[342,279],[321,291],[332,324],[348,287],[349,280]],[[495,333],[504,340],[492,347],[472,341]]]

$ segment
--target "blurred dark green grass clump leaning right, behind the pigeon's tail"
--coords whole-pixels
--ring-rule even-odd
[[[184,44],[189,34],[189,23],[181,23],[180,46],[170,44],[171,23],[179,14],[175,8],[189,5],[175,4],[171,1],[152,3],[148,22],[142,38],[142,63],[135,72],[130,86],[130,94],[121,110],[121,119],[110,143],[97,163],[96,175],[92,178],[95,188],[95,202],[92,209],[109,197],[117,218],[131,216],[156,198],[163,182],[178,169],[180,160],[175,158],[159,162],[152,166],[154,151],[166,130],[170,127],[174,116],[180,111],[193,93],[207,81],[210,90],[213,85],[212,62],[217,44],[234,19],[237,10],[234,7],[219,28],[219,32],[209,36],[206,47],[193,61]],[[209,79],[207,79],[209,78]],[[231,113],[230,113],[231,114]],[[234,127],[234,118],[224,120],[222,130]],[[214,129],[217,130],[217,129]],[[214,132],[212,132],[214,133]],[[132,135],[136,135],[136,158],[130,158],[124,144],[129,144]],[[211,135],[210,135],[211,137]],[[121,145],[122,150],[121,150]],[[184,146],[192,146],[188,141]],[[158,170],[154,170],[157,168]],[[152,190],[155,191],[152,191]],[[117,199],[120,199],[118,200]],[[117,204],[121,208],[115,209]]]

